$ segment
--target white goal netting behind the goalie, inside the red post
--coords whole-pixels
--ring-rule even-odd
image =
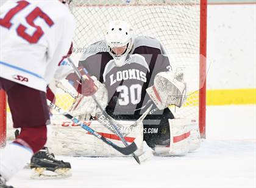
[[[151,36],[165,47],[173,69],[182,69],[188,86],[187,102],[174,109],[176,116],[198,116],[199,0],[108,0],[73,2],[77,19],[73,58],[79,60],[86,47],[104,39],[108,22],[129,22],[135,35]]]

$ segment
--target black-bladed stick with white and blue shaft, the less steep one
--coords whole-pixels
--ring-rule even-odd
[[[132,144],[130,144],[129,146],[127,145],[126,147],[116,146],[116,144],[112,143],[112,141],[110,141],[109,139],[107,139],[104,136],[100,135],[98,132],[96,132],[95,130],[93,130],[90,127],[88,127],[87,124],[82,123],[81,121],[79,121],[79,119],[75,118],[74,116],[72,116],[68,112],[65,112],[63,109],[61,109],[60,107],[56,106],[51,101],[47,100],[47,102],[48,102],[48,106],[51,109],[54,109],[55,111],[59,112],[60,114],[62,114],[66,118],[71,119],[71,121],[73,121],[74,123],[78,124],[83,129],[87,130],[87,132],[90,132],[93,136],[96,136],[97,138],[99,138],[102,141],[104,141],[104,143],[108,144],[109,146],[112,146],[114,149],[118,150],[118,152],[123,153],[124,155],[130,155],[131,153],[135,152],[138,149],[137,145],[134,142]]]

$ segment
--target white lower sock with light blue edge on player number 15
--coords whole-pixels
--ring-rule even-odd
[[[0,173],[5,180],[10,180],[15,173],[29,163],[33,152],[19,144],[11,143],[0,151]]]

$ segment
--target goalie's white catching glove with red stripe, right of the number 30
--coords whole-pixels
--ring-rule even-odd
[[[146,92],[160,110],[170,105],[181,107],[186,98],[186,84],[183,81],[183,73],[158,73],[154,79],[154,86],[146,89]]]

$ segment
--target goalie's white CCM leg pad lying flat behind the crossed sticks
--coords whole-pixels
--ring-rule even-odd
[[[110,141],[116,145],[124,147],[123,142],[119,140],[118,136],[116,136],[115,133],[110,132],[110,130],[102,126],[98,121],[85,121],[85,123],[89,124],[91,129],[103,134],[105,138],[110,139]],[[122,124],[129,130],[130,125],[132,125],[134,121],[118,121],[118,123]],[[121,132],[126,130],[121,130]],[[71,123],[70,121],[64,121],[62,124],[52,125],[48,133],[47,146],[55,155],[125,156],[103,143],[101,139],[87,133],[86,130]],[[141,155],[143,153],[142,123],[133,128],[132,131],[124,138],[126,138],[128,144],[135,141],[138,146],[138,150],[135,152],[136,155]]]

